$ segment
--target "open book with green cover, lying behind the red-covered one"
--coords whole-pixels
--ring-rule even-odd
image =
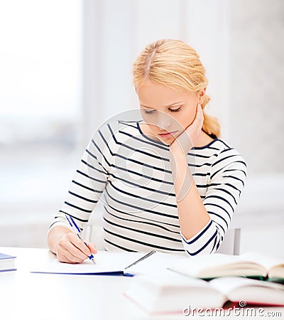
[[[270,281],[284,281],[284,260],[258,252],[241,255],[200,255],[174,262],[170,270],[190,277],[210,279],[222,276],[258,277]]]

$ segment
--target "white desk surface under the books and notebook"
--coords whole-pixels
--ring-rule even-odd
[[[131,277],[67,274],[33,274],[36,263],[53,260],[47,249],[0,247],[0,252],[16,255],[17,271],[0,272],[1,320],[178,320],[223,319],[206,316],[150,316],[139,309],[124,292]],[[282,312],[283,308],[266,308]],[[240,316],[226,316],[240,319]],[[267,316],[266,316],[267,318]],[[281,319],[280,316],[271,317]],[[247,319],[247,317],[246,317]],[[252,319],[258,319],[253,317]]]

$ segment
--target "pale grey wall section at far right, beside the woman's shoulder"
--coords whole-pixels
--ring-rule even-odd
[[[284,174],[284,1],[231,1],[229,14],[231,140],[251,174]]]

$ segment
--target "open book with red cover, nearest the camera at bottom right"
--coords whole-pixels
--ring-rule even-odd
[[[151,314],[182,313],[193,309],[222,308],[246,304],[284,306],[284,285],[244,277],[202,279],[172,276],[138,275],[124,292],[126,297]]]

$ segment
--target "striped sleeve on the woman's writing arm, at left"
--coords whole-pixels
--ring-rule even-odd
[[[65,202],[50,224],[49,230],[59,225],[70,228],[65,213],[75,219],[81,230],[88,222],[108,180],[113,154],[112,133],[109,125],[104,125],[92,137],[72,178]]]

